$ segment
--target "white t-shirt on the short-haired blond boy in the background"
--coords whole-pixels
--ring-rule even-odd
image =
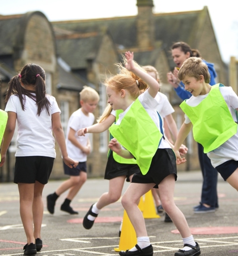
[[[70,128],[75,130],[74,136],[77,139],[77,141],[81,145],[87,146],[87,139],[89,138],[89,133],[86,133],[85,136],[78,136],[77,131],[84,127],[92,126],[94,120],[95,120],[95,117],[93,113],[89,113],[89,115],[84,115],[81,108],[79,110],[74,111],[74,113],[71,114],[70,119],[68,120],[68,126],[67,126],[67,132],[66,132],[66,146],[67,146],[68,156],[70,158],[79,162],[87,161],[87,155],[83,153],[81,149],[77,148],[77,146],[74,146],[73,143],[68,140],[68,133],[70,132]]]

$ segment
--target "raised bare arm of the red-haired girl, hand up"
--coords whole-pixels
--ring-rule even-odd
[[[144,72],[143,70],[140,70],[140,68],[137,68],[134,65],[134,54],[133,52],[126,52],[125,57],[127,60],[126,68],[136,74],[136,76],[139,76],[147,85],[149,86],[148,92],[149,94],[155,98],[159,91],[159,83],[154,79],[154,77],[150,76],[147,72]]]

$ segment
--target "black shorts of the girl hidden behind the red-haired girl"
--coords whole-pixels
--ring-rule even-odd
[[[127,181],[130,181],[129,177],[138,172],[140,172],[140,168],[137,166],[137,164],[117,163],[117,161],[114,160],[111,152],[108,157],[104,179],[111,180],[115,177],[126,176]]]

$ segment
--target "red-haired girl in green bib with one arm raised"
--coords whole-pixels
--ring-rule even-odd
[[[123,110],[116,124],[109,131],[114,137],[109,148],[124,158],[136,158],[140,172],[135,173],[129,188],[124,193],[122,204],[136,231],[137,244],[120,255],[153,255],[153,248],[146,232],[143,214],[137,206],[140,197],[154,187],[158,188],[164,210],[179,230],[184,247],[175,256],[200,255],[198,243],[193,240],[183,213],[174,204],[174,185],[177,179],[176,157],[170,144],[162,136],[161,120],[156,112],[159,83],[149,74],[137,68],[133,52],[125,54],[127,70],[140,77],[128,83],[127,77],[118,74],[106,83],[108,103],[113,110]],[[140,82],[146,82],[149,89],[139,95]]]

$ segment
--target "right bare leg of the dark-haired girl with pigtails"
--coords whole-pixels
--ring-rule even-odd
[[[42,191],[44,186],[45,185],[37,181],[35,183],[34,199],[33,199],[33,207],[32,207],[35,238],[41,238],[40,230],[41,230],[42,219],[43,219]]]

